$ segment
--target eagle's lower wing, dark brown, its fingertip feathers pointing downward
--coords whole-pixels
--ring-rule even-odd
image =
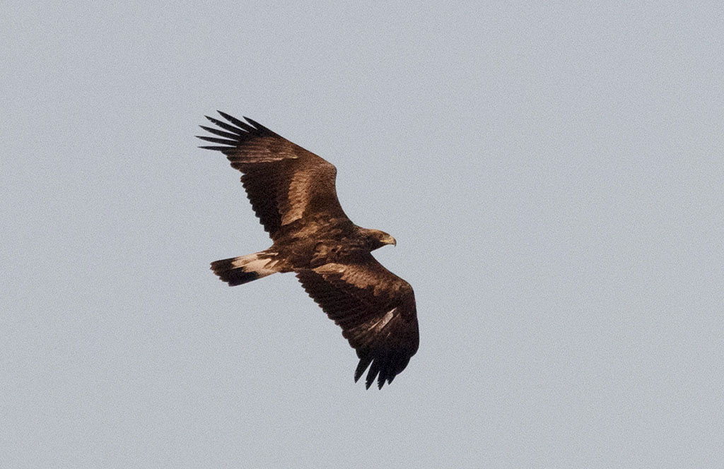
[[[405,369],[420,342],[415,294],[408,282],[371,254],[356,263],[299,271],[297,278],[357,350],[355,382],[369,366],[367,388],[376,378],[382,389]]]

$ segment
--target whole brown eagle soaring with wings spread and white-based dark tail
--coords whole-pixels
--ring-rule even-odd
[[[206,116],[216,127],[197,135],[224,153],[243,175],[254,213],[269,233],[271,248],[222,259],[211,270],[230,286],[293,272],[356,350],[357,382],[369,368],[366,388],[382,389],[405,369],[419,345],[415,294],[408,282],[385,269],[371,251],[397,245],[379,229],[354,224],[337,199],[337,168],[258,122]],[[212,136],[213,135],[213,136]]]

